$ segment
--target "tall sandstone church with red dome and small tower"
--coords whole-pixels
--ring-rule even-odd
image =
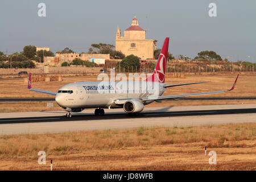
[[[115,36],[115,50],[121,51],[125,56],[135,55],[142,60],[154,59],[156,40],[146,39],[146,31],[139,27],[138,19],[134,16],[131,26],[124,31],[117,27]]]

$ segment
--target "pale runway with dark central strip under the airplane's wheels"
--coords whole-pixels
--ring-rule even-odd
[[[105,109],[104,116],[94,116],[92,109],[72,113],[72,118],[65,118],[65,113],[0,113],[0,135],[256,122],[256,104],[145,107],[136,117],[130,117],[123,109]]]

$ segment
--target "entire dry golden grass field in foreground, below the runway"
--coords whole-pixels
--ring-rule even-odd
[[[256,123],[1,135],[0,170],[255,170],[255,139]]]

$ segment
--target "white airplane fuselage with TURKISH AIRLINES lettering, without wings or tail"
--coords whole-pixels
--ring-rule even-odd
[[[166,88],[159,82],[113,81],[113,82],[75,82],[64,85],[56,94],[55,100],[64,109],[81,111],[85,108],[119,108],[115,100],[161,96]],[[143,102],[143,105],[153,101]]]

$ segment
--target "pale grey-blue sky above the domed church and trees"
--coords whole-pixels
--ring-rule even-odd
[[[46,4],[46,17],[38,16],[40,2]],[[208,15],[212,2],[217,17]],[[93,43],[115,45],[117,26],[123,35],[134,15],[147,30],[147,39],[158,40],[158,48],[170,37],[174,56],[195,57],[208,50],[223,59],[256,63],[255,0],[1,0],[0,51],[10,54],[34,45],[50,47],[54,53],[65,47],[80,53]]]

